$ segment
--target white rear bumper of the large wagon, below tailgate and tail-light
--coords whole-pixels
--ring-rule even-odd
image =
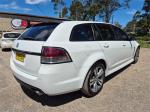
[[[81,79],[73,63],[41,65],[36,76],[21,71],[15,66],[12,58],[10,66],[17,79],[48,95],[64,94],[80,89]]]

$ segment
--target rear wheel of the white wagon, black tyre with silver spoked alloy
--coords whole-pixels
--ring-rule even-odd
[[[105,66],[101,62],[98,62],[89,70],[81,89],[82,93],[86,97],[93,97],[97,95],[103,87],[104,79]]]

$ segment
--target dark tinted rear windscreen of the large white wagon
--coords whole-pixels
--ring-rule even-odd
[[[30,27],[19,37],[19,40],[46,41],[57,25],[54,23]]]

